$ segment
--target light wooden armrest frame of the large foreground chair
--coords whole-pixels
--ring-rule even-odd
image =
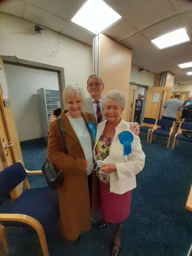
[[[37,170],[37,171],[26,170],[26,173],[34,175],[34,174],[42,174],[42,171],[41,170]],[[23,182],[24,182],[24,188],[30,189],[30,185],[29,185],[27,177],[24,179]],[[43,226],[35,218],[25,215],[25,214],[0,213],[0,222],[1,221],[13,221],[13,222],[16,221],[16,222],[28,224],[31,227],[33,227],[38,234],[43,256],[49,256],[49,251],[48,251],[48,246],[47,246],[47,241],[46,241],[46,236],[45,236]],[[2,241],[5,255],[9,255],[8,243],[7,243],[5,232],[4,232],[4,226],[2,226],[1,224],[0,224],[0,240]]]

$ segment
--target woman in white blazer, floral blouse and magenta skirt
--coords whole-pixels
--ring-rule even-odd
[[[103,100],[106,121],[98,124],[93,155],[97,161],[99,201],[104,222],[116,224],[112,256],[120,253],[122,223],[130,214],[135,175],[145,163],[140,139],[122,118],[125,97],[109,91]],[[102,163],[101,163],[102,161]]]

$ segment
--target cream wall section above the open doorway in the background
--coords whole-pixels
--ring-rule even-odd
[[[155,81],[155,74],[145,70],[139,72],[138,69],[138,66],[131,64],[130,82],[153,86]]]

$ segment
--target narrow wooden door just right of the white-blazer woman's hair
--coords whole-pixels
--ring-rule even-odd
[[[134,122],[134,113],[135,113],[135,101],[136,101],[136,93],[137,93],[137,86],[129,85],[129,94],[127,101],[127,121]]]

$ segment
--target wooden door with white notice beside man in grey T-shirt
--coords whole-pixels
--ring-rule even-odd
[[[147,89],[144,117],[161,119],[163,104],[171,99],[173,87],[152,87]]]

